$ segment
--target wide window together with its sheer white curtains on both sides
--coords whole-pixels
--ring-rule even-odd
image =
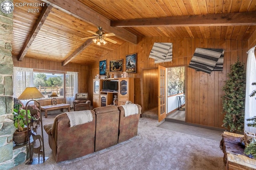
[[[44,95],[44,98],[41,98],[42,100],[51,99],[49,95],[55,92],[58,95],[56,98],[66,98],[66,104],[73,107],[74,96],[78,93],[77,72],[47,72],[22,67],[14,67],[13,70],[13,97],[18,98],[26,87],[37,87]],[[22,103],[24,102],[26,101],[22,101]]]

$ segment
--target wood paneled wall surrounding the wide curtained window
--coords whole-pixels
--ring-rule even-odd
[[[22,61],[18,61],[16,57],[13,57],[13,63],[15,67],[26,67],[33,69],[42,69],[42,70],[51,70],[51,71],[72,71],[78,72],[78,92],[79,93],[87,93],[89,83],[89,67],[78,64],[67,64],[62,66],[61,62],[57,61],[49,61],[49,60],[41,60],[25,57]],[[90,98],[92,99],[92,98]],[[66,99],[57,99],[57,103],[66,103]],[[41,100],[40,104],[50,105],[51,100]]]

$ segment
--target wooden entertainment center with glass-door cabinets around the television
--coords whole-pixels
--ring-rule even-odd
[[[118,89],[115,91],[104,91],[104,81],[116,81]],[[124,105],[126,101],[134,103],[134,78],[112,78],[112,79],[93,79],[93,107],[113,105],[114,95],[118,97],[118,106]]]

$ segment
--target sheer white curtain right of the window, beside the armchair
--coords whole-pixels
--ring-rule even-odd
[[[78,93],[78,73],[67,72],[66,74],[66,104],[70,104],[70,107],[74,107],[73,101],[75,95]]]

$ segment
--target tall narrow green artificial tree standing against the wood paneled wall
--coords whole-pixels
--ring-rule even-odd
[[[244,107],[246,91],[246,72],[244,63],[237,59],[231,65],[228,80],[222,87],[225,95],[222,97],[222,113],[226,113],[222,127],[230,132],[244,131]]]

